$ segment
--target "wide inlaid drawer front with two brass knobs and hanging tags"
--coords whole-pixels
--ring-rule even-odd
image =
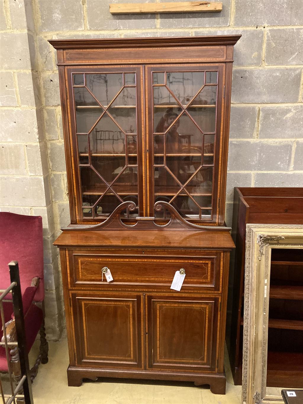
[[[173,257],[167,255],[106,255],[95,251],[69,250],[67,252],[70,287],[90,285],[100,288],[130,285],[144,287],[170,287],[176,271],[185,269],[186,287],[220,290],[223,253],[203,252],[201,257]],[[102,281],[102,268],[108,267],[114,280]]]

